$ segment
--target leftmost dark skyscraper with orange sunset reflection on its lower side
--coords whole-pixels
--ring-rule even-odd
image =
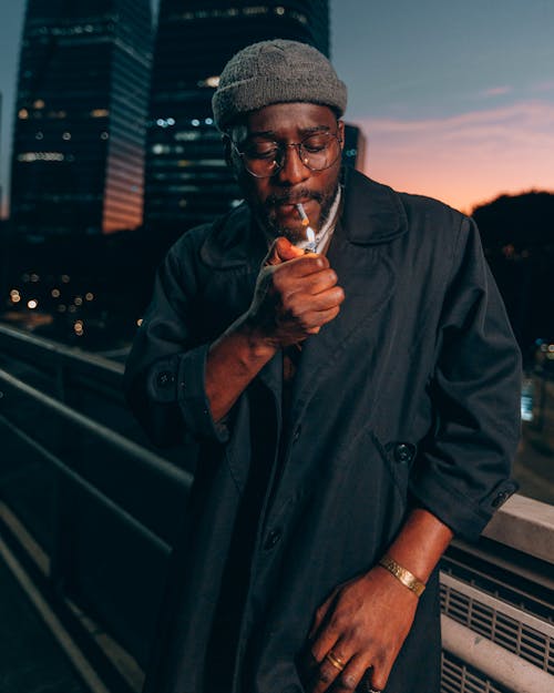
[[[28,0],[11,213],[20,234],[142,222],[150,0]]]

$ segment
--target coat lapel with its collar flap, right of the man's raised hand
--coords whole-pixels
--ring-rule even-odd
[[[304,343],[293,390],[291,420],[296,421],[337,361],[362,358],[371,349],[371,326],[387,310],[394,292],[394,269],[380,246],[407,231],[399,196],[355,171],[347,173],[345,193],[328,252],[345,302],[339,315]],[[356,361],[349,367],[356,368]]]

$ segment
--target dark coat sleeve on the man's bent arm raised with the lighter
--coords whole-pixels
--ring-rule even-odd
[[[181,442],[185,435],[227,439],[226,427],[212,418],[204,385],[209,344],[198,336],[195,252],[187,234],[167,254],[125,365],[127,402],[158,446]]]

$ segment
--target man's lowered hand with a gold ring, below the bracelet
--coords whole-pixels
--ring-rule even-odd
[[[362,680],[368,691],[384,689],[417,607],[417,595],[380,567],[337,588],[311,629],[309,693],[347,693]]]

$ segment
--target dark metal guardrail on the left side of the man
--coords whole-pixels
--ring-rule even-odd
[[[1,356],[7,332],[8,356],[45,364],[50,378],[62,364],[65,385],[83,374],[86,387],[121,385],[120,365],[102,377],[102,359],[41,353],[29,335],[14,349],[17,330],[2,330]],[[0,431],[0,500],[48,554],[48,580],[144,664],[192,475],[4,369]]]

